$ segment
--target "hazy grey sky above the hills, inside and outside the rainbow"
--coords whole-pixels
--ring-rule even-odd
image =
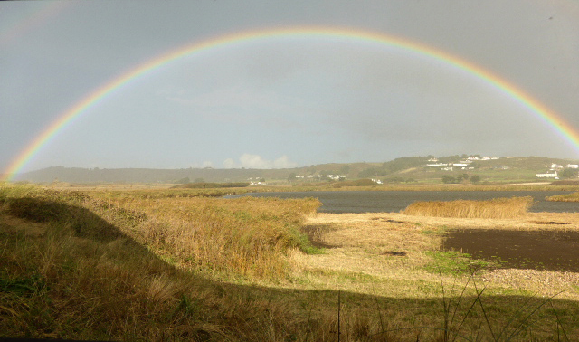
[[[34,141],[120,75],[143,72]],[[579,158],[577,141],[477,66],[579,132],[579,1],[0,2],[0,174],[49,166],[285,168],[396,157]],[[577,136],[579,137],[579,136]]]

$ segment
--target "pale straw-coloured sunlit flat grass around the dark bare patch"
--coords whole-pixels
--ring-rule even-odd
[[[564,222],[564,226],[549,224]],[[443,234],[452,229],[505,229],[517,230],[565,230],[579,231],[577,213],[527,213],[515,219],[489,220],[467,218],[444,218],[410,216],[399,213],[367,214],[317,214],[308,218],[308,226],[324,227],[318,235],[320,242],[328,246],[322,255],[296,253],[293,257],[305,270],[326,270],[365,274],[375,277],[375,281],[352,284],[358,290],[371,291],[371,287],[383,288],[382,281],[401,280],[407,287],[396,289],[384,286],[386,296],[395,293],[420,295],[415,289],[416,282],[426,281],[436,289],[438,274],[426,272],[423,266],[432,262],[428,252],[440,249]],[[406,252],[403,257],[391,256],[386,252]],[[445,276],[452,282],[454,275]],[[549,295],[565,290],[562,298],[579,300],[579,274],[533,270],[496,270],[481,275],[491,288],[498,291],[519,289],[528,292],[541,291]],[[330,277],[331,278],[331,277]],[[378,281],[379,279],[379,281]],[[334,280],[312,280],[320,287],[324,282]],[[312,282],[313,283],[313,282]],[[344,289],[344,288],[343,288]],[[355,288],[346,288],[356,290]],[[394,292],[393,292],[394,291]],[[424,292],[424,296],[432,293]]]

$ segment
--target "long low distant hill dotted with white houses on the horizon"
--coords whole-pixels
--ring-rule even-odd
[[[106,183],[195,183],[195,182],[248,182],[252,179],[286,181],[289,176],[299,179],[327,179],[327,175],[345,176],[347,179],[375,178],[387,183],[431,182],[436,183],[442,176],[477,175],[482,181],[501,182],[508,180],[534,180],[536,173],[543,173],[552,164],[566,166],[579,164],[578,160],[549,157],[500,157],[485,159],[471,157],[468,167],[453,166],[464,161],[467,155],[449,157],[400,157],[384,163],[332,163],[286,169],[217,169],[217,168],[80,168],[53,166],[26,172],[14,177],[14,181],[52,183],[55,181],[77,184]],[[477,159],[478,158],[478,159]],[[449,167],[432,166],[450,164]],[[426,166],[430,165],[430,166]]]

